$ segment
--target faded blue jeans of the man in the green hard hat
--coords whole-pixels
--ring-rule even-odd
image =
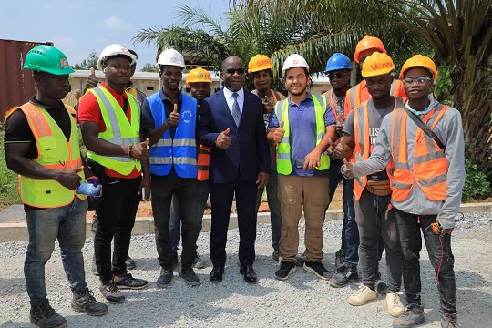
[[[67,206],[56,209],[26,210],[27,245],[24,275],[31,304],[45,302],[45,264],[58,239],[63,268],[72,292],[86,288],[82,247],[86,241],[87,200],[77,197]]]

